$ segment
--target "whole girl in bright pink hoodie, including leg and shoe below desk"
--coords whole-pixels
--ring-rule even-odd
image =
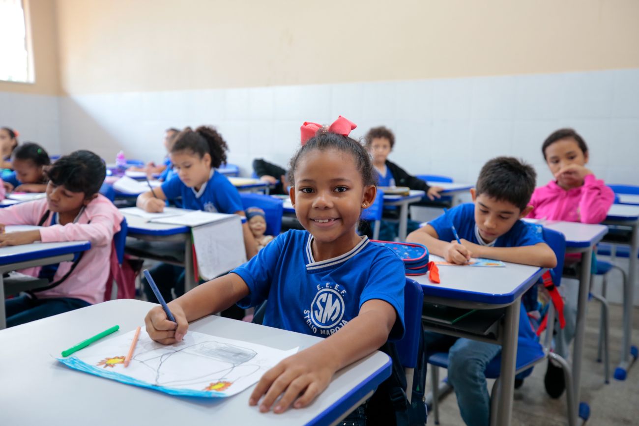
[[[535,189],[530,199],[533,209],[528,217],[583,224],[602,222],[615,201],[615,194],[604,185],[603,180],[597,179],[585,167],[588,162],[588,146],[583,138],[571,128],[562,128],[546,138],[541,151],[556,180]],[[569,259],[574,262],[580,260],[580,257]],[[562,293],[566,294],[566,287],[570,284],[572,283],[564,281]],[[566,298],[564,316],[566,326],[555,341],[555,352],[567,359],[577,316],[576,303],[571,297]],[[550,360],[544,385],[546,392],[553,398],[560,397],[566,388],[562,369]]]

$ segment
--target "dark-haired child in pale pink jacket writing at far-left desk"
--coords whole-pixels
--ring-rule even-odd
[[[105,173],[99,156],[91,151],[75,151],[59,158],[47,172],[46,199],[0,209],[0,231],[4,231],[4,225],[42,226],[33,231],[3,232],[0,247],[35,241],[91,243],[73,270],[74,262],[60,262],[22,271],[46,278],[51,285],[6,300],[8,327],[104,301],[113,235],[123,219],[111,201],[98,194]]]

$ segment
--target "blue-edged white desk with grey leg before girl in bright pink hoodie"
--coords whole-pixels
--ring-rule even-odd
[[[577,303],[577,322],[573,346],[573,384],[574,384],[574,418],[579,412],[579,388],[581,379],[581,356],[586,325],[586,309],[590,292],[590,266],[592,250],[608,232],[605,225],[580,224],[576,222],[548,221],[541,222],[548,229],[561,232],[566,237],[566,253],[580,253],[579,298]]]

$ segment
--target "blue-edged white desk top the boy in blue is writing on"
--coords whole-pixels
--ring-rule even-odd
[[[429,255],[429,261],[443,261],[442,257]],[[505,262],[505,268],[479,266],[438,266],[440,284],[433,284],[428,274],[406,277],[419,282],[428,296],[463,301],[506,305],[525,293],[531,280],[537,280],[544,269],[537,266]]]

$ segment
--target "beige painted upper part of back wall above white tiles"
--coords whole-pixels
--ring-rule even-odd
[[[58,0],[65,93],[639,66],[637,0]]]

